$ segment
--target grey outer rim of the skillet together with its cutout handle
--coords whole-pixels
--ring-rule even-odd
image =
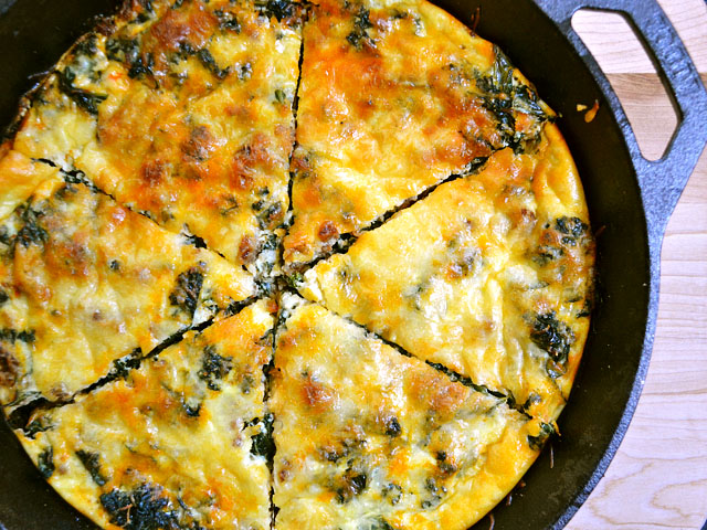
[[[648,318],[645,327],[643,351],[636,369],[636,380],[631,398],[624,409],[621,423],[611,444],[601,463],[597,466],[584,491],[577,497],[573,506],[567,510],[562,518],[552,526],[552,528],[562,528],[603,476],[625,434],[639,401],[643,378],[647,371],[652,337],[655,330],[662,236],[667,220],[707,141],[707,128],[701,123],[704,118],[700,118],[707,112],[707,93],[684,45],[655,0],[641,2],[634,2],[633,0],[535,1],[556,22],[558,29],[570,41],[592,72],[601,88],[601,96],[609,104],[610,108],[605,110],[615,117],[621,128],[625,147],[631,156],[641,188],[651,254]],[[666,152],[656,161],[646,160],[641,153],[634,132],[616,94],[611,88],[604,72],[602,72],[572,28],[572,15],[582,8],[614,11],[625,18],[641,43],[648,51],[648,56],[653,61],[668,96],[674,102],[678,126]],[[644,285],[647,286],[648,284]]]

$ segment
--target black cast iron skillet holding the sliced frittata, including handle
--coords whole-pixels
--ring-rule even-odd
[[[510,506],[494,510],[495,529],[563,527],[603,476],[639,401],[653,346],[663,232],[705,141],[707,94],[687,52],[655,0],[436,0],[496,42],[562,117],[598,236],[599,304],[570,402],[553,443],[524,478]],[[28,76],[49,68],[109,13],[116,0],[0,0],[0,124],[14,115]],[[580,8],[623,13],[653,53],[679,113],[666,155],[641,156],[609,82],[572,31]],[[599,100],[585,124],[578,103]],[[4,422],[0,422],[0,529],[93,529],[40,477]],[[474,529],[488,528],[482,520]]]

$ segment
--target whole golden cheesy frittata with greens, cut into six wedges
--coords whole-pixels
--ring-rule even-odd
[[[98,524],[464,529],[534,462],[593,242],[492,43],[424,0],[133,0],[31,103],[0,145],[0,403],[72,400],[18,436]],[[352,237],[289,278],[321,306],[282,296],[274,360],[272,300],[223,318]]]

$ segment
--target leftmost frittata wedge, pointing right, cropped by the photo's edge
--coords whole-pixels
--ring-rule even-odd
[[[2,404],[65,400],[255,290],[240,268],[84,184],[45,181],[0,235]]]

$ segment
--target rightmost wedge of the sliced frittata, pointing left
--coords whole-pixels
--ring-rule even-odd
[[[304,295],[551,422],[589,318],[592,241],[555,126],[492,156],[305,274]]]

